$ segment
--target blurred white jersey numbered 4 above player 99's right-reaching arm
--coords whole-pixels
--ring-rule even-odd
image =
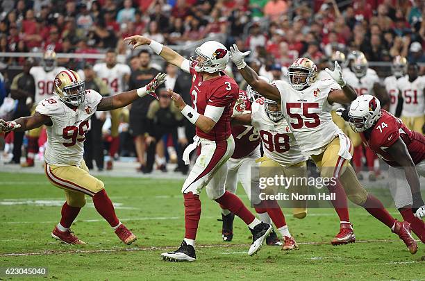
[[[93,70],[108,85],[111,96],[124,92],[124,76],[131,74],[130,67],[122,63],[117,63],[113,68],[108,68],[105,62],[98,63]]]

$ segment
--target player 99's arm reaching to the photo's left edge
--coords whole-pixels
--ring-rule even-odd
[[[38,128],[42,125],[51,125],[51,119],[47,115],[35,112],[35,114],[29,117],[21,117],[13,121],[4,121],[0,119],[0,133],[8,133],[12,130],[17,132],[24,132]]]

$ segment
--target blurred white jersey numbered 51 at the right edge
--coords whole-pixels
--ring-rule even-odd
[[[418,76],[413,82],[406,75],[397,80],[397,86],[403,95],[401,116],[419,117],[424,114],[425,76]]]

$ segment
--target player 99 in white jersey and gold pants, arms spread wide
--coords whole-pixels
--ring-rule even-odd
[[[148,85],[138,90],[109,97],[102,97],[94,90],[85,90],[84,81],[73,70],[60,71],[54,81],[55,96],[40,101],[31,117],[9,122],[0,120],[0,133],[47,126],[45,173],[51,184],[65,190],[66,197],[60,223],[51,232],[53,238],[66,244],[85,244],[70,228],[88,195],[92,197],[97,212],[108,221],[119,239],[125,244],[131,244],[137,238],[117,218],[103,182],[88,173],[83,160],[84,135],[94,112],[122,108],[139,97],[155,95],[156,88],[165,81],[165,74],[158,74]]]

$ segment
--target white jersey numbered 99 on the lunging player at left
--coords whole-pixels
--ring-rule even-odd
[[[83,160],[85,132],[89,119],[96,112],[101,94],[86,90],[85,100],[72,110],[58,96],[42,100],[35,111],[50,117],[47,126],[47,148],[44,160],[57,166],[78,166]]]

